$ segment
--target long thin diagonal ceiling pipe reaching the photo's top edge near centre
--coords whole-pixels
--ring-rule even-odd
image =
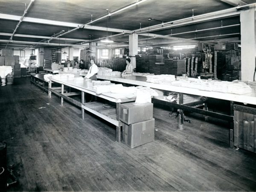
[[[140,3],[143,3],[143,2],[145,2],[145,1],[147,1],[147,0],[140,0],[140,1],[137,0],[137,2],[132,3],[132,4],[129,5],[129,6],[125,6],[125,7],[121,8],[121,9],[118,9],[118,10],[112,12],[112,13],[110,12],[110,13],[108,13],[108,14],[102,16],[102,17],[99,17],[98,19],[91,20],[91,21],[88,22],[88,23],[85,23],[85,24],[80,25],[80,26],[78,26],[78,27],[76,27],[76,28],[74,28],[74,29],[71,29],[71,30],[69,30],[69,31],[67,31],[67,32],[64,32],[64,33],[62,33],[62,34],[60,34],[60,35],[55,36],[55,37],[49,39],[49,41],[51,41],[52,39],[61,37],[62,35],[66,35],[67,33],[73,32],[73,31],[75,31],[75,30],[77,30],[77,29],[79,29],[79,28],[82,28],[82,27],[86,26],[86,25],[90,25],[91,23],[94,23],[94,22],[96,22],[96,21],[98,21],[98,20],[102,20],[102,19],[104,19],[105,17],[108,17],[108,16],[114,15],[114,14],[116,14],[116,13],[122,12],[122,11],[124,11],[125,9],[129,9],[129,8],[131,8],[131,7],[133,7],[133,6],[137,6],[137,5],[139,5]]]

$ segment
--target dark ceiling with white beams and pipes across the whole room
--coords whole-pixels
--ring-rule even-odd
[[[128,45],[128,34],[134,32],[139,45],[239,41],[243,10],[237,5],[251,3],[256,0],[0,0],[0,49],[98,42],[106,38],[107,19],[113,46]]]

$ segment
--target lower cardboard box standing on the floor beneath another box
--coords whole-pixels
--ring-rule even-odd
[[[122,124],[122,143],[131,148],[154,141],[154,118],[143,122]]]

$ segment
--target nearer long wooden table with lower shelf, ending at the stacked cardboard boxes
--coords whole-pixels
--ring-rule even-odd
[[[122,122],[119,120],[119,105],[125,102],[133,102],[136,99],[136,95],[131,94],[118,94],[118,93],[102,93],[96,94],[96,91],[93,90],[92,81],[76,81],[69,79],[53,79],[49,78],[49,97],[52,93],[61,97],[61,105],[63,105],[63,99],[81,107],[82,119],[84,119],[84,110],[89,111],[96,116],[105,119],[113,125],[116,125],[116,140],[120,142],[121,140],[121,126]],[[61,84],[61,87],[52,87],[52,82]],[[72,87],[79,92],[64,93],[64,86]],[[59,92],[61,90],[61,92]],[[89,93],[91,95],[106,99],[108,101],[116,103],[116,106],[111,108],[104,108],[101,102],[85,102],[84,93]],[[72,99],[70,96],[81,94],[81,102]]]

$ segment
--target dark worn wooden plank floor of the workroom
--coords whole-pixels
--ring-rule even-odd
[[[229,148],[226,122],[189,117],[177,130],[168,113],[154,107],[155,141],[131,149],[113,125],[15,79],[0,87],[0,141],[19,180],[8,191],[256,191],[256,154]]]

